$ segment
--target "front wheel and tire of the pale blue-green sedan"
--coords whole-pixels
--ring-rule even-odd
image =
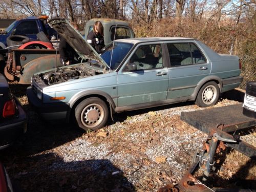
[[[83,130],[100,129],[109,117],[106,103],[98,97],[91,97],[81,101],[75,108],[75,120]]]

